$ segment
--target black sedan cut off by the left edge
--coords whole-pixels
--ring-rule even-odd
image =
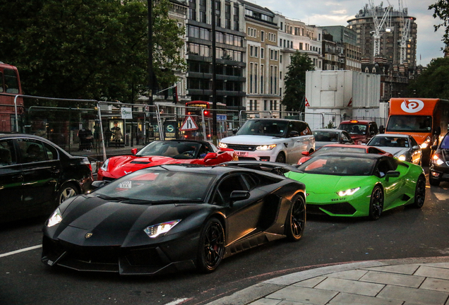
[[[87,158],[40,136],[0,134],[0,222],[49,215],[92,181]]]

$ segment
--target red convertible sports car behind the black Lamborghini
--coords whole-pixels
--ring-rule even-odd
[[[156,165],[189,163],[196,165],[219,165],[223,162],[237,161],[234,150],[222,148],[200,140],[157,140],[133,155],[110,157],[98,169],[98,180],[114,180],[145,167]]]

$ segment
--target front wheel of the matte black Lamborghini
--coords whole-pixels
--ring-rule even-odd
[[[217,269],[224,255],[224,229],[220,220],[210,218],[200,236],[198,270],[211,273]]]

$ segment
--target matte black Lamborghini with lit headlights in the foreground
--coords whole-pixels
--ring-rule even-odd
[[[122,275],[207,273],[268,241],[297,241],[305,186],[270,170],[280,169],[162,165],[128,174],[54,211],[43,228],[42,262]]]

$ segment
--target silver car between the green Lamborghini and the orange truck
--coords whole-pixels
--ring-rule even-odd
[[[401,161],[407,161],[422,166],[421,147],[412,136],[404,134],[382,133],[371,138],[369,146],[376,146],[390,152]]]

